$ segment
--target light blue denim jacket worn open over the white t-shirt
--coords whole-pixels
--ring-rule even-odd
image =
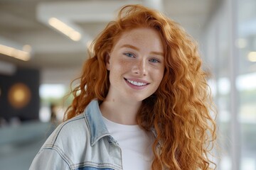
[[[33,159],[30,170],[122,169],[122,154],[91,101],[83,114],[58,126]]]

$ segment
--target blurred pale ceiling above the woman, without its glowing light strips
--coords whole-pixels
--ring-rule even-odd
[[[38,68],[42,83],[69,82],[86,60],[86,42],[95,38],[124,4],[158,8],[197,40],[217,8],[216,0],[1,0],[0,44],[31,45],[33,56],[23,62],[0,54],[0,62]],[[80,30],[82,40],[75,42],[51,28],[47,23],[50,17]]]

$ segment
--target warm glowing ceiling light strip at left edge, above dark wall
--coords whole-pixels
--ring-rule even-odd
[[[15,57],[23,61],[28,61],[31,59],[29,52],[17,50],[14,47],[8,47],[6,45],[0,45],[0,53],[3,55],[9,55],[10,57]]]

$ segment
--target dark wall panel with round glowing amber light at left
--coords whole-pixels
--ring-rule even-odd
[[[0,74],[0,117],[9,121],[37,120],[39,113],[39,71],[18,68],[12,76]]]

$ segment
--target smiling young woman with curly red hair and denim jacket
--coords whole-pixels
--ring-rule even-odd
[[[210,169],[213,103],[191,37],[130,5],[92,47],[65,122],[30,169]]]

